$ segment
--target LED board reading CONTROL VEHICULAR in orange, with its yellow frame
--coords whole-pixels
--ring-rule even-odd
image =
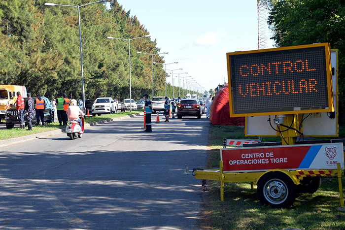
[[[230,116],[332,111],[328,43],[227,54]]]

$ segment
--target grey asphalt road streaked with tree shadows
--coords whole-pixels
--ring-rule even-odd
[[[163,120],[163,116],[161,121]],[[152,116],[155,121],[156,116]],[[0,229],[198,229],[209,121],[143,118],[0,148]]]

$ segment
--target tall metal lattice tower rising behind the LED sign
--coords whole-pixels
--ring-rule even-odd
[[[258,49],[267,48],[267,1],[258,2]]]

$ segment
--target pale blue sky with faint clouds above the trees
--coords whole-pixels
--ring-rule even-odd
[[[157,39],[167,69],[207,91],[228,82],[226,53],[258,49],[257,0],[118,0]],[[268,30],[269,32],[269,30]],[[274,42],[269,39],[268,48]],[[189,78],[189,79],[190,79]],[[168,78],[172,82],[172,78]],[[175,86],[178,81],[175,78]],[[182,80],[181,80],[182,86]]]

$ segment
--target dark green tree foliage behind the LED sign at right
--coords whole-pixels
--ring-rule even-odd
[[[329,42],[339,49],[339,110],[345,109],[345,1],[344,0],[269,0],[268,23],[276,46]],[[341,124],[345,114],[340,114]]]

